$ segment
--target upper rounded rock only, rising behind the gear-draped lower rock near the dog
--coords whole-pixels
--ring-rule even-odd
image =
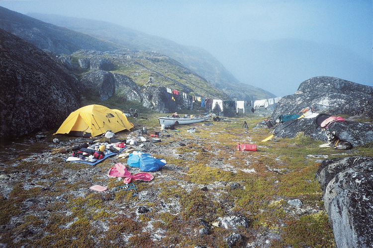
[[[336,77],[319,76],[299,85],[293,95],[282,97],[271,118],[296,115],[310,107],[315,113],[363,115],[373,118],[373,87]]]

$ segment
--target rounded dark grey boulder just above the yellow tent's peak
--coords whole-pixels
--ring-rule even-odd
[[[86,94],[107,100],[115,93],[115,80],[111,72],[95,70],[87,73],[81,79]]]

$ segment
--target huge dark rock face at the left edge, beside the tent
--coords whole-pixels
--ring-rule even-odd
[[[34,45],[0,29],[0,136],[58,127],[80,108],[78,79]]]

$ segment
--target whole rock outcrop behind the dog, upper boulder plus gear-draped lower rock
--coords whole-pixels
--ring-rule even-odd
[[[373,124],[353,122],[354,119],[373,118],[373,87],[365,86],[335,77],[314,77],[302,82],[293,95],[283,97],[271,119],[280,115],[301,115],[305,108],[312,108],[315,113],[332,116],[348,115],[345,122],[329,125],[329,131],[353,146],[373,142]],[[278,137],[293,138],[298,133],[327,142],[326,131],[316,123],[315,118],[289,120],[278,124],[273,131]]]

